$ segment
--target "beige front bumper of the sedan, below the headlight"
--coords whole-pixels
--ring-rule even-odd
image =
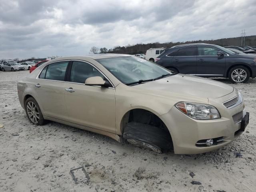
[[[244,117],[246,115],[244,105],[240,104],[232,109],[227,109],[221,105],[219,107],[216,106],[216,108],[220,111],[221,118],[213,120],[190,118],[176,107],[172,107],[168,113],[160,116],[172,136],[175,154],[198,154],[216,150],[230,144],[242,134],[240,132],[241,122],[235,124],[232,116],[243,111]],[[221,138],[222,141],[212,146],[196,144],[200,140],[202,142],[202,140],[212,138]]]

